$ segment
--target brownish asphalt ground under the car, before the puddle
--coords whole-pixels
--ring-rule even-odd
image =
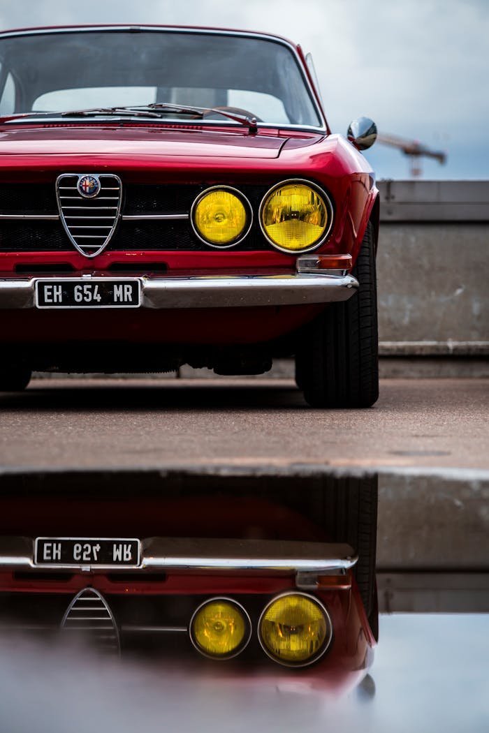
[[[384,380],[369,410],[312,410],[287,380],[33,380],[0,394],[4,467],[489,469],[489,380]]]

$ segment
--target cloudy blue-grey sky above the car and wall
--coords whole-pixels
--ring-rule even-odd
[[[168,23],[271,32],[315,61],[326,117],[444,150],[424,179],[489,178],[489,0],[0,0],[2,29]],[[379,178],[410,175],[396,149],[367,151]]]

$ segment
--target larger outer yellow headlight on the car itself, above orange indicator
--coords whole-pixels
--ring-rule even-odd
[[[279,249],[301,252],[319,244],[331,226],[331,210],[315,188],[291,181],[274,188],[262,204],[265,235]]]

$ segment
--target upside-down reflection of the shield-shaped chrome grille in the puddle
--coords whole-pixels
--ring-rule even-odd
[[[104,652],[119,652],[119,633],[109,606],[98,591],[86,588],[67,608],[61,627],[83,635]]]

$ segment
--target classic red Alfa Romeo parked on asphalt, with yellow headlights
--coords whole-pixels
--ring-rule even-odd
[[[32,369],[266,372],[378,394],[378,192],[301,48],[158,27],[0,35],[0,388]]]

